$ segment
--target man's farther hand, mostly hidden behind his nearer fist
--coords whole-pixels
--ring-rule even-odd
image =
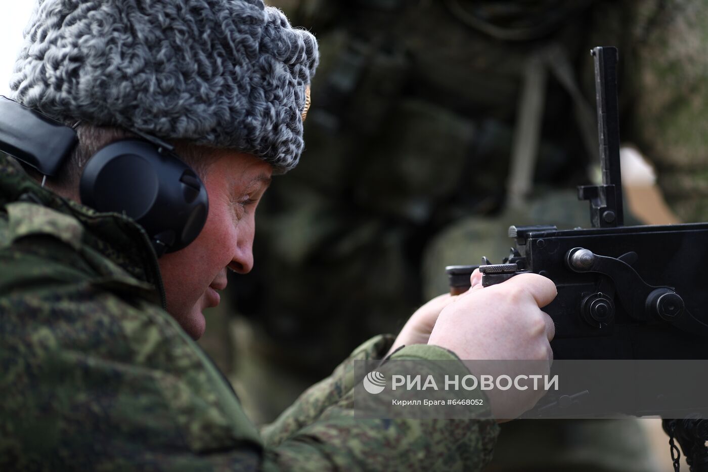
[[[411,344],[428,344],[428,338],[430,337],[430,332],[433,331],[435,322],[438,321],[438,316],[443,308],[450,303],[455,302],[458,298],[467,296],[470,291],[481,288],[482,276],[479,270],[475,270],[470,277],[470,282],[472,287],[469,291],[462,293],[462,295],[452,296],[450,293],[445,293],[443,295],[437,296],[428,303],[421,306],[416,310],[416,313],[411,315],[411,318],[406,322],[399,335],[396,337],[396,341],[389,349],[386,357],[390,356],[396,349],[401,346],[410,346]]]

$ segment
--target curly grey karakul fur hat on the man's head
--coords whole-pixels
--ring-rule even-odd
[[[39,0],[13,98],[63,121],[255,154],[302,152],[317,43],[262,0]]]

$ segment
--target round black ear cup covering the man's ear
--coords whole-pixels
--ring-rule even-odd
[[[96,152],[81,174],[79,192],[84,205],[137,221],[158,257],[195,240],[209,211],[197,174],[175,154],[141,140],[113,142]]]

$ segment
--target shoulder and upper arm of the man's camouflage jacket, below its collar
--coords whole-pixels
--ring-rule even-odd
[[[70,215],[30,203],[5,208],[0,458],[13,449],[29,463],[61,466],[81,451],[89,462],[72,468],[87,469],[159,456],[178,466],[236,449],[246,462],[258,459],[258,434],[215,366],[140,296],[152,285],[84,247]]]

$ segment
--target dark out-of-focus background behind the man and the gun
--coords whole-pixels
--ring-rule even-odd
[[[32,3],[0,17],[0,94]],[[509,225],[590,225],[591,47],[619,48],[627,224],[708,220],[702,0],[267,3],[320,42],[307,148],[200,340],[259,424],[447,291],[445,265],[501,262]],[[659,420],[598,420],[509,423],[489,470],[671,468]]]

